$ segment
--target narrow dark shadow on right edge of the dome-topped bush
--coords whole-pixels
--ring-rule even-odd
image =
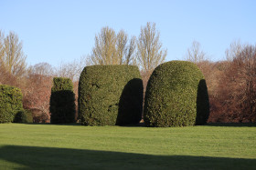
[[[197,86],[197,118],[196,125],[205,125],[209,116],[208,87],[205,79]]]

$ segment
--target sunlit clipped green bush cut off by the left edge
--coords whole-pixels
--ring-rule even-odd
[[[0,85],[0,123],[13,122],[20,111],[23,111],[21,90],[10,85]]]

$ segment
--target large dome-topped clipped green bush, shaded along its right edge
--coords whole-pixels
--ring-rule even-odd
[[[197,65],[171,61],[155,68],[145,93],[146,126],[203,125],[208,114],[208,88]]]

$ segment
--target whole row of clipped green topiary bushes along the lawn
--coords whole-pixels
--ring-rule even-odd
[[[143,112],[143,92],[143,82],[137,66],[85,67],[79,82],[81,124],[138,124]],[[75,108],[71,80],[55,77],[49,107],[51,123],[73,123]],[[155,68],[145,93],[146,126],[204,125],[208,115],[208,88],[197,65],[172,61]],[[23,109],[20,89],[0,85],[0,123],[32,121],[32,114]]]

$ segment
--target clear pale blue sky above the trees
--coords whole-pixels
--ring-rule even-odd
[[[166,61],[183,59],[197,40],[211,60],[235,40],[256,44],[255,0],[0,0],[0,29],[23,41],[28,65],[59,65],[90,55],[95,34],[110,26],[140,34],[155,22]]]

